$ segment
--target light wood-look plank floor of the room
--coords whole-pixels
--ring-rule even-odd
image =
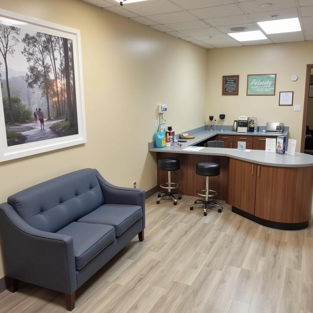
[[[146,201],[145,240],[133,239],[76,292],[73,312],[313,313],[313,223],[263,227],[231,212],[189,210],[195,198]],[[23,283],[0,312],[66,312],[64,296]]]

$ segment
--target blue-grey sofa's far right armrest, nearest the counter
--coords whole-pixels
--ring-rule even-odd
[[[145,200],[146,192],[139,188],[118,187],[107,182],[95,169],[98,182],[100,184],[105,203],[112,204],[132,204],[142,208],[142,228],[145,228]]]

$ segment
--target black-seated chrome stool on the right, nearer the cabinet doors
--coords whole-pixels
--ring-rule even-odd
[[[221,213],[223,207],[217,204],[215,200],[210,200],[209,198],[215,197],[217,192],[215,190],[209,189],[209,177],[219,175],[219,164],[213,162],[201,162],[196,165],[196,174],[201,176],[206,176],[205,189],[198,190],[197,193],[201,197],[205,197],[205,200],[198,199],[190,206],[190,210],[193,210],[193,206],[198,204],[204,204],[204,216],[207,216],[207,207],[212,205],[218,207],[218,213]],[[221,179],[221,178],[220,178]],[[222,179],[221,179],[222,180]]]

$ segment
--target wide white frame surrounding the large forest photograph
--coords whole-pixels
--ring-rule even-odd
[[[78,134],[75,134],[75,135],[69,135],[69,136],[63,136],[63,137],[60,136],[58,138],[51,138],[51,139],[45,139],[45,140],[38,139],[37,141],[33,141],[33,142],[8,146],[5,116],[4,116],[4,110],[3,110],[2,92],[0,89],[0,162],[86,143],[87,137],[86,137],[80,30],[69,28],[66,26],[58,25],[55,23],[47,22],[47,21],[43,21],[43,20],[39,20],[36,18],[31,18],[28,16],[24,16],[24,15],[10,12],[10,11],[3,10],[3,9],[0,9],[0,23],[4,25],[8,25],[8,26],[23,27],[23,29],[26,29],[25,31],[29,31],[33,33],[38,32],[38,33],[58,36],[58,37],[72,40],[72,44],[73,44],[72,64],[74,66],[73,80],[75,80],[77,127],[78,127]],[[17,25],[22,25],[22,26],[17,26]],[[16,51],[16,53],[18,52],[20,51]],[[1,55],[0,57],[2,58]],[[2,77],[2,79],[4,78],[5,77]],[[33,124],[33,125],[38,125],[38,124]]]

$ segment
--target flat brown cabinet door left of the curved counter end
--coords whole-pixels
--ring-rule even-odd
[[[228,204],[254,215],[256,164],[230,158],[228,166]]]

